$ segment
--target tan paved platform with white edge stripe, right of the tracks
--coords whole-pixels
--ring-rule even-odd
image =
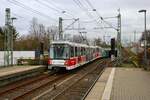
[[[85,100],[150,100],[150,72],[106,68]]]

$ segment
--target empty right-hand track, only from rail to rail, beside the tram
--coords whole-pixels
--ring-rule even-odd
[[[82,76],[78,81],[71,84],[70,87],[64,89],[61,93],[52,98],[52,100],[81,100],[84,99],[89,92],[89,88],[93,86],[93,82],[97,80],[97,77],[103,72],[104,66],[97,67],[84,76]],[[91,88],[90,88],[91,89]]]

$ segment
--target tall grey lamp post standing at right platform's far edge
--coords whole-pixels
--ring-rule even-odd
[[[144,63],[147,65],[147,52],[146,52],[146,41],[147,41],[147,36],[146,36],[146,10],[139,10],[139,13],[144,12]]]

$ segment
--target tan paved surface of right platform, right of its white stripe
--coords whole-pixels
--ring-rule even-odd
[[[116,68],[110,100],[150,100],[150,72]]]

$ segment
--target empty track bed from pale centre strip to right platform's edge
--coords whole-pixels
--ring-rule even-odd
[[[58,85],[55,90],[37,96],[34,100],[81,100],[86,97],[94,82],[99,78],[105,68],[105,60],[97,60],[83,68],[76,76]]]

